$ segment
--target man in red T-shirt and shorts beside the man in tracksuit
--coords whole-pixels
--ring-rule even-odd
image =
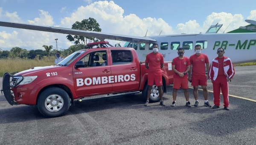
[[[198,107],[198,86],[200,85],[203,89],[204,95],[204,106],[212,107],[208,101],[208,90],[207,90],[207,79],[208,75],[205,75],[205,64],[207,72],[209,73],[209,59],[208,56],[201,53],[201,45],[195,46],[195,54],[191,55],[189,60],[192,65],[192,77],[191,71],[189,71],[188,80],[191,82],[191,85],[194,87],[193,93],[195,97],[195,107]]]

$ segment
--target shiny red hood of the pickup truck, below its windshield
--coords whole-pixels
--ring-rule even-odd
[[[19,73],[16,73],[15,75],[23,75],[23,76],[27,76],[27,75],[31,75],[33,73],[38,73],[38,72],[42,72],[42,71],[45,71],[45,70],[52,70],[52,69],[57,69],[58,67],[61,67],[61,66],[46,66],[46,67],[32,67],[31,69],[29,70],[23,70]]]

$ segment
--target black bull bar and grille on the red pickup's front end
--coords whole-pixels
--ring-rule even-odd
[[[12,73],[4,73],[3,75],[3,88],[1,89],[1,93],[4,94],[6,97],[6,100],[11,105],[17,105],[18,103],[14,101],[14,96],[12,91],[13,87],[17,87],[18,84],[23,81],[24,77],[22,75],[12,75],[14,73],[18,72],[12,72]],[[13,79],[15,77],[15,79]],[[17,82],[17,78],[22,77],[20,81]],[[12,81],[10,81],[12,78]],[[12,84],[11,84],[12,83]]]

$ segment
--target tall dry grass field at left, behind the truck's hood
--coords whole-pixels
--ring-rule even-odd
[[[12,73],[15,71],[21,72],[23,70],[28,70],[32,67],[44,67],[54,65],[54,57],[44,57],[42,59],[21,59],[21,58],[7,58],[0,59],[0,77],[8,72]]]

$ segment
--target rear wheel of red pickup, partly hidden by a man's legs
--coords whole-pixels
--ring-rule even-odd
[[[163,90],[163,86],[161,86],[161,87]],[[145,87],[142,92],[143,98],[147,99],[147,94],[148,94],[148,84],[145,84]],[[159,100],[160,100],[160,96],[159,96],[159,92],[158,92],[158,87],[156,85],[153,85],[148,101],[149,102],[158,102]]]

